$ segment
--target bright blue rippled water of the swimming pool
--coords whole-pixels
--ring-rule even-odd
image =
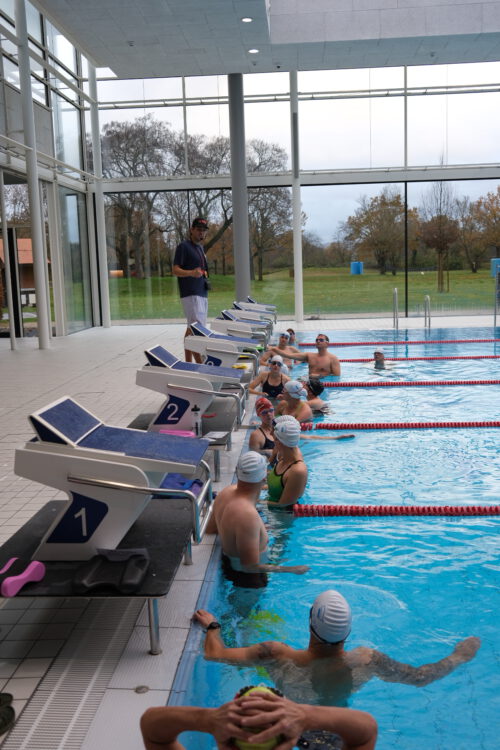
[[[353,340],[352,332],[335,332],[330,339],[340,340],[341,335]],[[354,335],[356,340],[364,336],[372,342],[388,340],[393,333]],[[426,335],[433,339],[493,338],[491,329],[467,330],[466,335],[434,330]],[[422,337],[422,331],[411,335]],[[455,346],[407,346],[411,351],[406,355],[398,346],[394,356],[419,356],[415,351],[419,348],[427,355],[449,356]],[[498,346],[460,345],[460,352],[454,354],[473,353],[472,347],[475,353],[498,353]],[[363,357],[370,356],[370,347],[373,344],[366,349],[349,348],[349,353],[347,347],[335,351],[341,358]],[[460,379],[498,377],[499,362],[467,361],[468,374],[462,371]],[[458,379],[446,360],[404,364],[405,368],[432,366],[427,370],[432,375],[426,372],[421,379]],[[415,372],[422,375],[421,369]],[[344,365],[342,380],[362,380],[372,374],[365,364]],[[408,369],[404,379],[410,379]],[[332,390],[334,413],[326,421],[498,420],[499,390],[500,386]],[[356,432],[356,438],[346,442],[303,441],[309,466],[303,502],[498,503],[499,437],[498,428],[369,430]],[[374,714],[379,750],[499,747],[499,518],[294,518],[268,511],[265,502],[260,510],[270,530],[273,562],[309,564],[311,569],[305,576],[271,574],[265,589],[247,591],[235,589],[215,563],[208,576],[213,583],[205,588],[200,606],[217,615],[228,645],[272,639],[306,646],[309,607],[326,588],[338,589],[351,604],[348,649],[369,646],[419,665],[443,658],[469,635],[478,636],[482,646],[476,658],[442,680],[416,688],[374,678],[347,703]],[[198,654],[200,638],[196,628],[191,647]],[[268,665],[238,668],[210,663],[199,655],[181,702],[219,705],[241,685],[255,682],[276,684],[290,698],[303,702],[343,699],[335,690],[318,694],[296,673]],[[184,687],[177,685],[180,691]],[[202,750],[213,747],[210,739],[200,735],[187,738],[186,743]]]

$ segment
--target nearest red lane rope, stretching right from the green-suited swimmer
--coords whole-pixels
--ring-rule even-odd
[[[500,505],[294,505],[295,516],[498,516]]]

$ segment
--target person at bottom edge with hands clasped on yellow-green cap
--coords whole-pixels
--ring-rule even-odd
[[[277,750],[292,750],[297,743],[318,750],[373,750],[377,741],[377,722],[365,711],[301,705],[261,685],[243,688],[218,708],[158,706],[141,717],[146,750],[186,750],[177,738],[190,731],[211,734],[219,750],[250,748],[251,740],[265,744],[274,737]]]

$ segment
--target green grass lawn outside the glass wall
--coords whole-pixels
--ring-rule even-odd
[[[234,300],[234,277],[210,277],[209,315],[231,307]],[[304,312],[306,315],[390,314],[392,295],[398,288],[399,309],[404,311],[404,275],[381,276],[376,271],[351,275],[348,269],[307,268],[304,270]],[[494,280],[489,270],[476,274],[450,271],[450,291],[438,294],[437,274],[414,272],[409,275],[409,312],[423,307],[424,296],[431,298],[434,311],[491,311]],[[252,294],[261,302],[277,305],[282,315],[294,312],[294,281],[289,272],[276,271],[252,282]],[[177,280],[171,277],[110,280],[111,317],[113,320],[182,318]]]

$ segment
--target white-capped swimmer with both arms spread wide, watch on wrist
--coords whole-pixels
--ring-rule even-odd
[[[209,628],[216,618],[199,609],[194,618]],[[372,677],[385,682],[424,687],[450,674],[476,655],[481,642],[470,636],[453,651],[431,664],[412,667],[391,659],[374,648],[344,648],[351,632],[351,608],[338,591],[323,591],[313,602],[309,615],[309,645],[292,648],[267,641],[242,648],[228,648],[218,629],[207,630],[205,658],[230,664],[264,665],[276,685],[294,700],[308,703],[346,705],[351,693]]]

